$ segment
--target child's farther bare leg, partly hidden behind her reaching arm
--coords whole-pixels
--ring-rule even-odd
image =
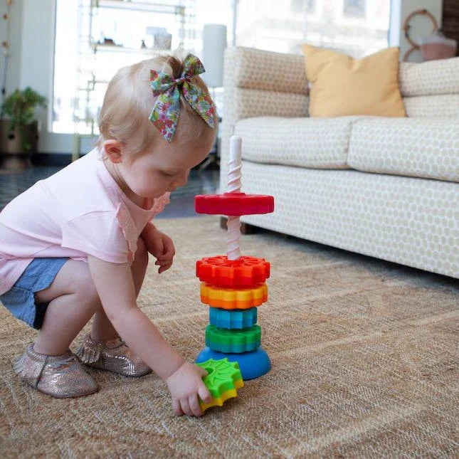
[[[142,288],[144,282],[145,272],[148,265],[148,252],[142,238],[137,241],[137,251],[135,253],[134,261],[131,265],[132,278],[134,279],[134,287],[136,296]],[[105,311],[100,307],[95,313],[93,328],[91,329],[91,338],[96,341],[105,339],[112,339],[117,336],[117,331],[108,319]]]

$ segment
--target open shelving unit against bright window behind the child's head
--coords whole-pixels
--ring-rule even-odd
[[[177,48],[195,48],[195,11],[196,0],[78,0],[78,78],[73,110],[78,139],[73,159],[79,157],[80,138],[98,134],[103,95],[119,68]],[[171,48],[154,48],[147,26],[167,29],[172,34]]]

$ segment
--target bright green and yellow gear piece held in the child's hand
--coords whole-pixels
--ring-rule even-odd
[[[210,403],[199,400],[202,411],[211,406],[222,406],[224,401],[238,396],[238,389],[244,385],[238,362],[209,359],[197,365],[207,371],[203,381],[212,396]]]

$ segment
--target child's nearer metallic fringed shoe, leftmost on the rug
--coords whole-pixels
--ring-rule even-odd
[[[70,351],[62,355],[38,354],[31,344],[14,363],[14,371],[22,381],[58,399],[94,394],[99,389]]]

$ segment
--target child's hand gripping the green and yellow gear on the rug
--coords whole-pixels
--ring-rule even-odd
[[[202,381],[207,371],[200,366],[184,362],[166,379],[172,396],[172,408],[177,416],[202,416],[198,396],[205,403],[210,403],[212,396]]]

